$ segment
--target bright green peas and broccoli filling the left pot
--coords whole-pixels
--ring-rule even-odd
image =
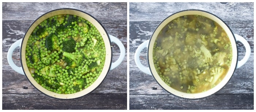
[[[70,94],[92,85],[102,72],[106,49],[93,24],[76,15],[42,21],[26,45],[26,63],[43,88]]]

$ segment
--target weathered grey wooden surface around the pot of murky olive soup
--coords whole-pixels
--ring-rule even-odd
[[[129,7],[129,109],[254,109],[253,3],[129,3]],[[201,9],[219,16],[251,46],[247,63],[235,70],[224,88],[204,99],[188,100],[169,94],[134,62],[137,47],[150,39],[157,25],[184,9]],[[245,48],[240,42],[237,44],[238,60],[241,60]],[[148,66],[146,50],[140,55],[144,66]]]

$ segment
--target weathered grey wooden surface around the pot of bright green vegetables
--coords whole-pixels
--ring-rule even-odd
[[[9,47],[22,39],[29,25],[43,13],[57,8],[87,12],[102,23],[108,34],[117,37],[127,49],[127,3],[3,3],[2,109],[127,109],[127,57],[108,72],[103,83],[91,94],[74,100],[58,100],[37,91],[25,76],[7,62]],[[112,62],[120,50],[112,43]],[[127,50],[126,50],[127,53]],[[20,66],[19,48],[12,59]],[[24,87],[24,88],[23,88]]]

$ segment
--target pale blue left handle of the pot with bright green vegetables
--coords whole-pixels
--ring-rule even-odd
[[[15,48],[21,46],[21,42],[22,42],[22,39],[19,39],[11,45],[11,47],[9,48],[8,53],[7,53],[7,61],[9,63],[9,65],[11,66],[11,68],[14,69],[14,71],[24,75],[22,67],[18,67],[17,65],[15,65],[14,61],[12,60],[12,53],[14,52]]]

